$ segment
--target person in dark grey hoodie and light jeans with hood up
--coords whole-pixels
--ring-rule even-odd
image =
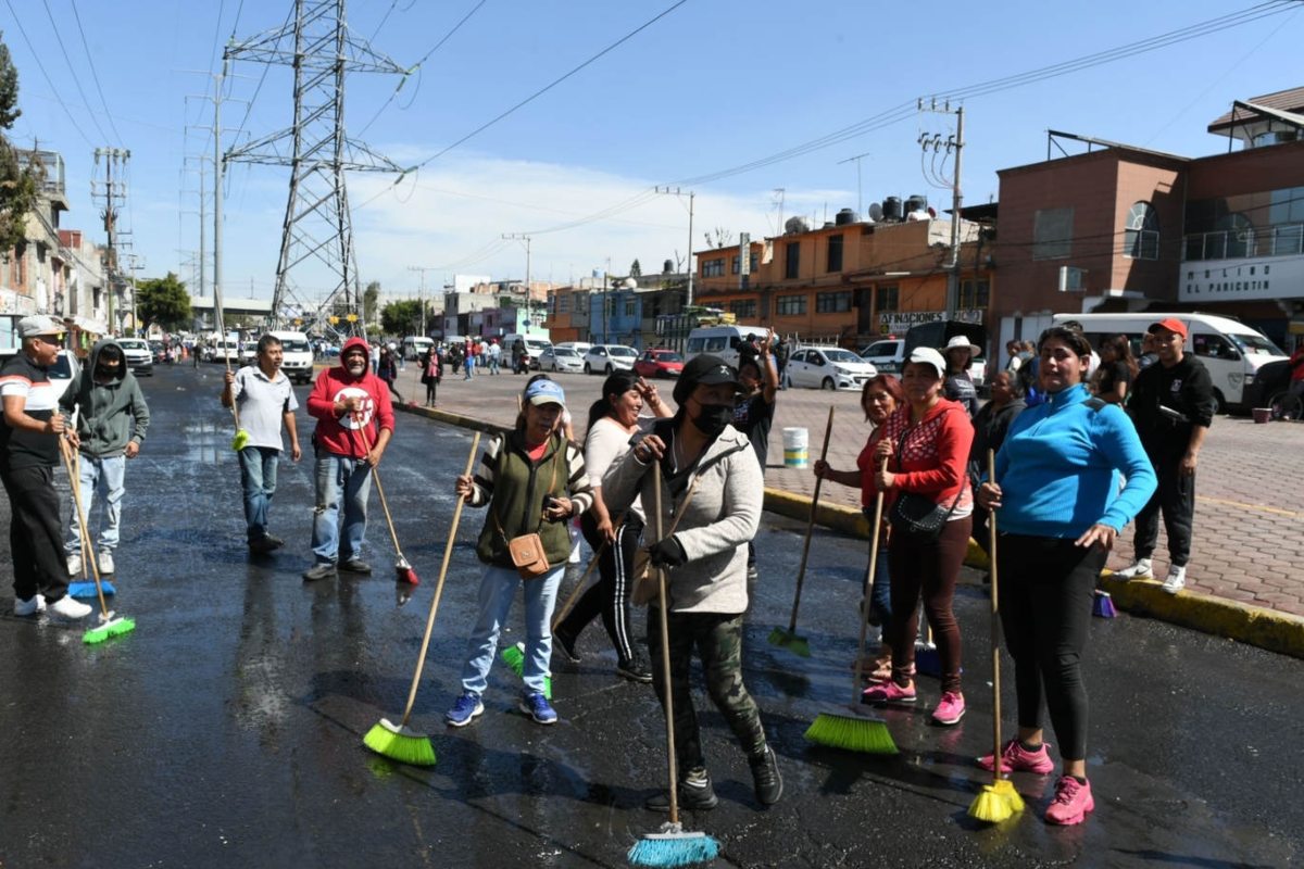
[[[112,339],[100,339],[90,348],[90,358],[59,400],[65,413],[77,412],[77,436],[81,438],[78,485],[81,515],[93,521],[95,495],[99,495],[99,541],[95,563],[100,573],[113,573],[113,550],[117,548],[123,520],[123,495],[126,494],[126,460],[134,459],[150,427],[150,409],[141,384],[126,366],[123,348]],[[73,506],[68,520],[64,552],[68,573],[82,571],[81,520]],[[87,538],[90,529],[86,529]]]

